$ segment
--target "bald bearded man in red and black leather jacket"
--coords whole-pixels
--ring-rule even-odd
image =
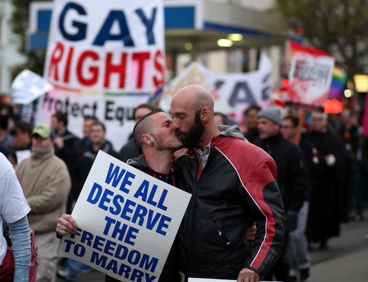
[[[285,212],[277,168],[240,128],[216,126],[214,101],[199,85],[179,90],[170,107],[173,130],[185,146],[174,153],[179,187],[192,194],[178,231],[186,277],[258,282],[281,253]],[[257,222],[256,238],[244,243]]]

